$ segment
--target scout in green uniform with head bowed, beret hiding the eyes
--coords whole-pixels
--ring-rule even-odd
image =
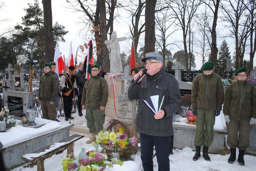
[[[219,116],[224,100],[221,77],[213,73],[213,67],[213,62],[206,62],[201,68],[204,72],[197,75],[193,80],[191,103],[193,114],[197,116],[197,129],[194,140],[196,153],[193,157],[195,161],[201,156],[201,146],[204,146],[204,160],[211,160],[208,155],[208,148],[213,142],[215,116]]]

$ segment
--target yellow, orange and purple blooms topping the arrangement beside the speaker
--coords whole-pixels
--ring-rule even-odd
[[[118,133],[102,130],[98,135],[96,135],[96,144],[101,143],[117,148],[124,148],[128,144],[135,147],[135,144],[137,144],[137,138],[129,138],[128,135],[123,133],[122,129],[119,129]]]

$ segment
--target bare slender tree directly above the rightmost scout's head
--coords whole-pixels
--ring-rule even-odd
[[[230,32],[233,35],[232,37],[235,38],[236,69],[238,69],[240,67],[240,64],[243,64],[243,59],[240,60],[240,58],[243,56],[240,55],[241,49],[239,48],[239,42],[240,44],[245,44],[243,39],[245,39],[245,37],[247,36],[247,27],[245,27],[245,22],[243,21],[243,16],[245,16],[247,4],[245,4],[243,0],[225,0],[225,2],[226,5],[221,5],[221,8],[223,9],[225,16],[223,18],[223,21],[228,22],[230,24],[228,28],[230,28]]]

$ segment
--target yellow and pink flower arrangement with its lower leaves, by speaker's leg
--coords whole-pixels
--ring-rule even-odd
[[[129,138],[128,135],[123,133],[122,128],[119,128],[118,133],[104,130],[100,131],[98,135],[96,135],[94,146],[100,145],[103,149],[106,149],[110,156],[114,149],[117,149],[119,154],[123,155],[126,153],[126,149],[129,144],[135,147],[135,144],[137,144],[137,138]],[[97,147],[95,148],[97,149]]]

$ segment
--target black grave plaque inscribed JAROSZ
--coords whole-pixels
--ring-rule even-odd
[[[21,97],[7,96],[9,113],[11,115],[22,117],[23,100]]]

